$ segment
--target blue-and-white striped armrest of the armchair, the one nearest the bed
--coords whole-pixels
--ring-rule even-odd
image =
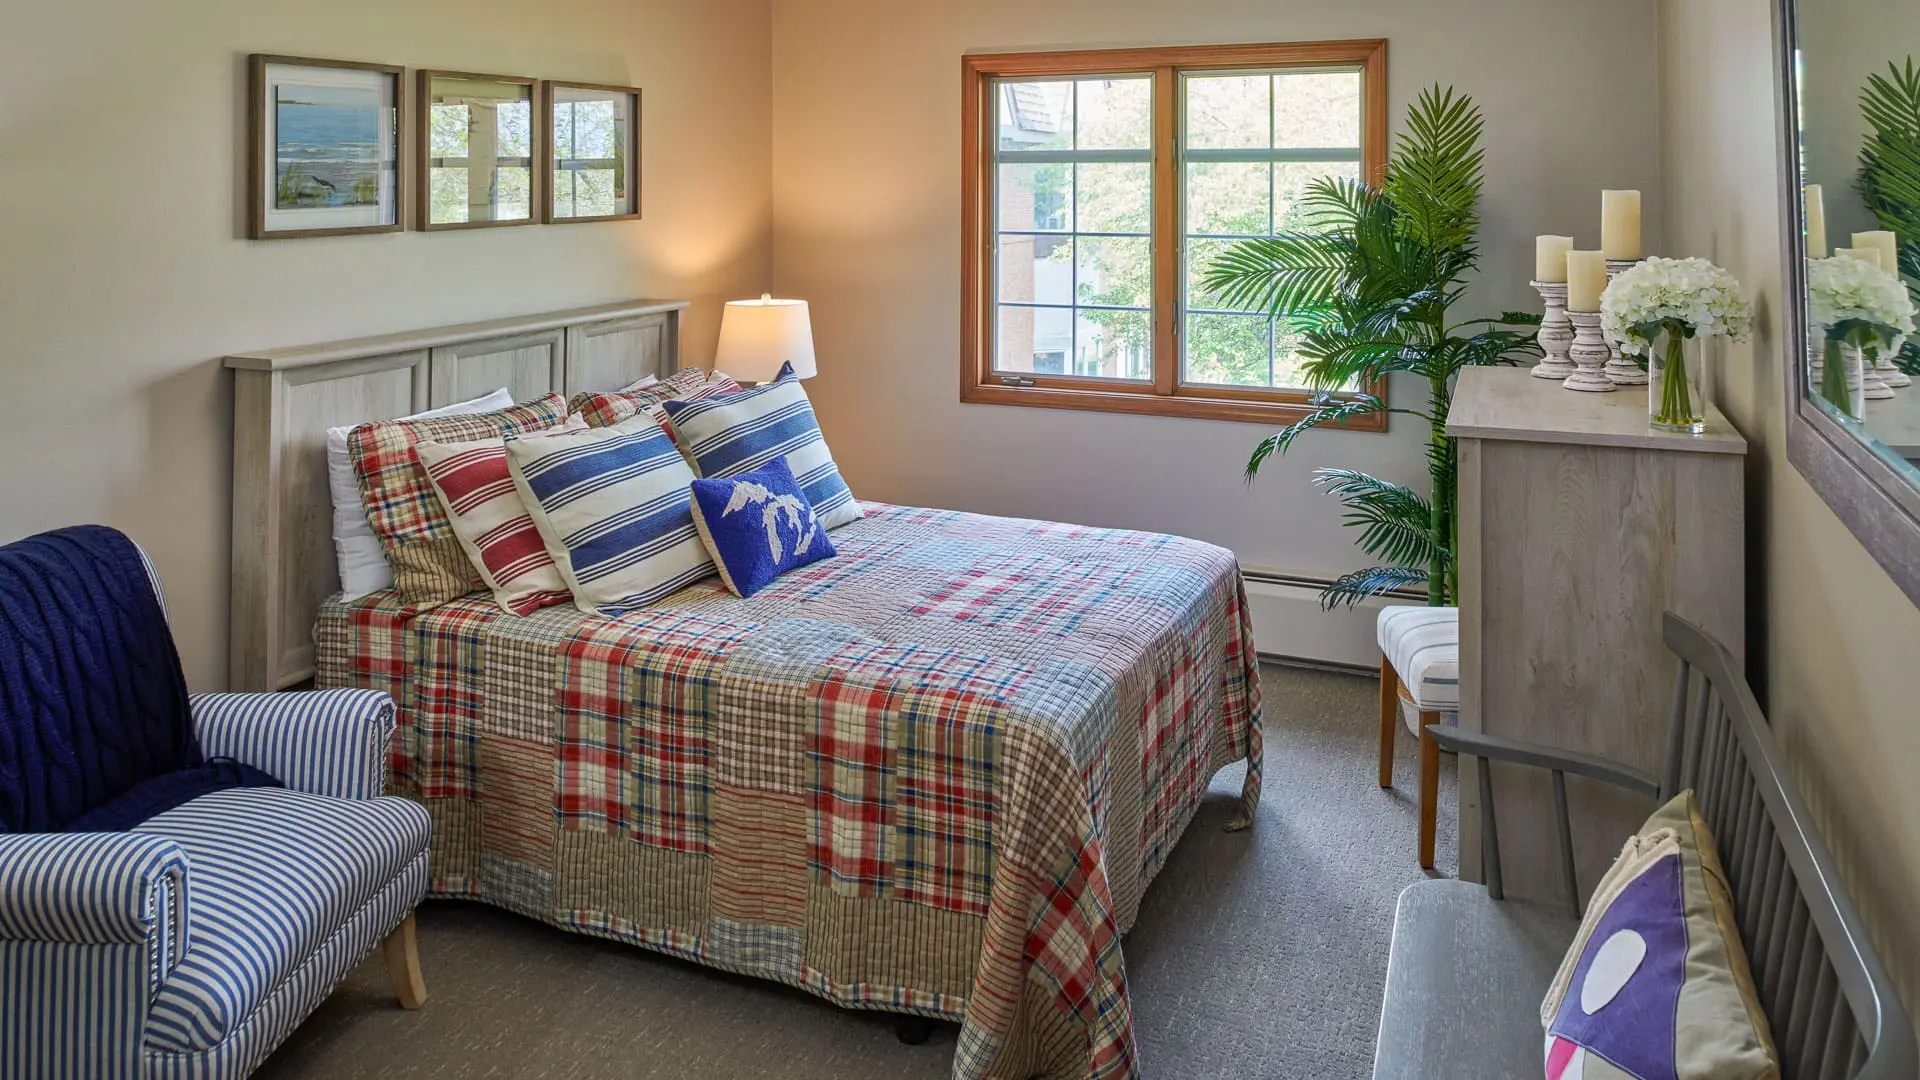
[[[394,700],[380,690],[196,694],[207,757],[232,757],[309,796],[371,799],[386,786]]]

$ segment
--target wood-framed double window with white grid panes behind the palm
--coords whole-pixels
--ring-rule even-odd
[[[966,94],[962,400],[1304,413],[1286,327],[1198,282],[1315,177],[1379,179],[1386,42],[970,56]]]

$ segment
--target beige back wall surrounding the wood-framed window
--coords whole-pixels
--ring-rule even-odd
[[[1419,421],[1315,434],[1248,490],[1261,427],[958,400],[962,54],[1352,37],[1390,38],[1396,117],[1434,81],[1486,111],[1486,307],[1538,306],[1536,233],[1597,246],[1599,188],[1657,209],[1653,0],[774,0],[774,282],[814,306],[810,390],[854,492],[1363,565],[1308,475],[1425,484]]]

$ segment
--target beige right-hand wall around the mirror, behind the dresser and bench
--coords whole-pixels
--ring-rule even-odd
[[[1768,715],[1908,1011],[1920,1007],[1920,611],[1786,459],[1768,0],[1663,0],[1668,248],[1734,271],[1759,332],[1716,361],[1749,459]]]

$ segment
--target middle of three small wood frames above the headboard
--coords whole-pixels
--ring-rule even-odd
[[[420,71],[415,194],[420,229],[486,229],[538,219],[547,140],[538,83],[518,75]]]

